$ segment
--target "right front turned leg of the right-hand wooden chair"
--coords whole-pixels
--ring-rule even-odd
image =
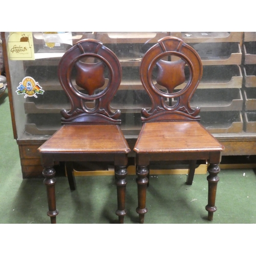
[[[205,209],[208,211],[208,220],[212,221],[214,217],[214,212],[217,210],[215,206],[215,199],[216,199],[216,190],[217,184],[220,178],[218,174],[220,172],[220,167],[218,164],[209,164],[208,166],[208,173],[207,176],[208,180],[208,204],[206,205]]]

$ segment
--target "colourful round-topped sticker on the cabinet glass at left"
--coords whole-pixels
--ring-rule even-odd
[[[17,94],[25,94],[24,98],[27,97],[35,97],[36,94],[44,94],[44,90],[39,86],[38,82],[36,82],[32,77],[25,77],[22,82],[19,82],[19,86],[17,87]]]

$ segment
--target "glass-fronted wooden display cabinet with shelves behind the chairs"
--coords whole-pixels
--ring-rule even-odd
[[[202,125],[225,146],[222,155],[256,155],[255,32],[1,32],[1,35],[13,134],[24,178],[41,176],[37,148],[61,125],[60,110],[70,106],[58,82],[58,62],[69,48],[85,38],[101,41],[121,62],[122,81],[111,108],[121,111],[121,129],[131,150],[142,125],[141,109],[151,106],[140,81],[141,58],[159,39],[172,35],[193,47],[202,59],[203,77],[191,106],[200,106]],[[166,104],[175,103],[175,99],[167,101]],[[134,158],[134,153],[129,157]]]

